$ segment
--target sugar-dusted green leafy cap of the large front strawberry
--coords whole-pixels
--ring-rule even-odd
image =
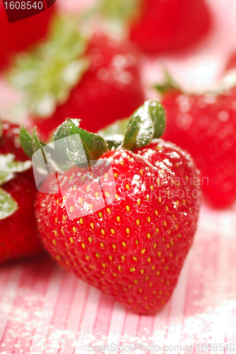
[[[61,172],[73,165],[88,166],[90,161],[97,161],[107,150],[120,148],[134,150],[148,145],[153,138],[163,135],[165,110],[159,101],[144,102],[131,115],[128,124],[125,124],[126,129],[123,123],[122,134],[119,134],[119,131],[114,135],[102,132],[102,137],[81,129],[79,125],[80,120],[67,118],[54,132],[53,141],[47,145],[40,142],[36,128],[30,135],[25,127],[21,127],[20,144],[30,158],[41,149],[49,171]],[[114,125],[117,125],[117,122]]]

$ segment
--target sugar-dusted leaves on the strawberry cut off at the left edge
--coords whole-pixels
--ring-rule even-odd
[[[0,139],[3,132],[3,126],[0,121]],[[28,161],[16,161],[14,154],[0,154],[0,186],[16,177],[16,173],[27,171],[31,168],[32,163]],[[0,220],[6,219],[18,210],[16,200],[7,193],[4,188],[0,187]]]

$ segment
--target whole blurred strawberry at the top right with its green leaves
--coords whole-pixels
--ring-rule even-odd
[[[205,0],[101,0],[100,11],[125,23],[129,38],[154,55],[195,44],[212,25]]]

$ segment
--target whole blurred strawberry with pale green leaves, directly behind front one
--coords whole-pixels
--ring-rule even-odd
[[[59,19],[51,40],[20,68],[14,82],[28,93],[33,125],[45,139],[67,117],[81,118],[81,127],[97,132],[144,99],[134,47],[102,33],[85,40],[71,18]]]

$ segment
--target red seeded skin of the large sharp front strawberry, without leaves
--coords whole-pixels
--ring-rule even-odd
[[[40,236],[69,272],[128,309],[156,312],[170,298],[193,241],[201,193],[191,178],[199,173],[189,154],[161,139],[101,158],[112,166],[102,182],[107,205],[98,183],[87,188],[88,176],[74,167],[59,177],[66,181],[62,194],[53,185],[52,194],[37,194]]]

